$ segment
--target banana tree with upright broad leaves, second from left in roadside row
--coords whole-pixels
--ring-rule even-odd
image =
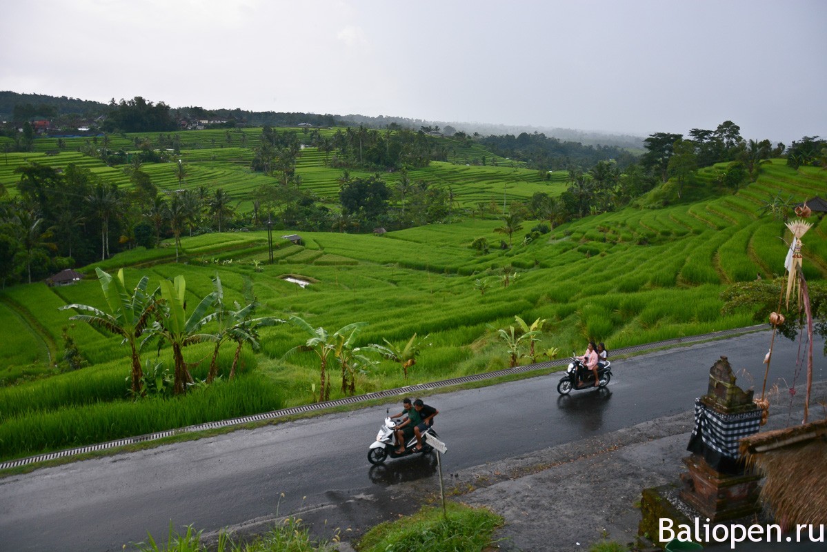
[[[194,383],[184,362],[184,347],[194,343],[215,342],[218,339],[215,334],[199,333],[206,324],[216,319],[215,311],[211,312],[215,305],[216,292],[213,291],[204,297],[192,314],[187,316],[186,288],[184,276],[175,276],[174,281],[160,281],[160,308],[155,310],[155,322],[144,340],[146,343],[151,338],[159,338],[159,348],[165,341],[172,346],[175,395],[181,395],[186,391],[186,382]]]

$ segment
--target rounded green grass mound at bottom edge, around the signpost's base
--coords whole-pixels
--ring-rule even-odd
[[[503,518],[485,508],[449,502],[441,508],[424,506],[413,516],[386,521],[359,541],[360,552],[480,552],[493,544],[494,530]]]

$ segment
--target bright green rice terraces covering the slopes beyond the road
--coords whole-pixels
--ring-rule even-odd
[[[176,177],[174,162],[146,164],[142,170],[161,190],[221,186],[237,198],[240,210],[249,209],[252,190],[273,180],[249,169],[250,146],[260,133],[184,133],[192,141],[189,149],[181,148],[188,166],[184,179]],[[134,147],[134,138],[113,137],[112,146]],[[55,145],[39,143],[35,152],[7,153],[0,158],[0,184],[14,193],[19,180],[14,170],[31,161],[76,164],[119,186],[128,184],[123,170],[77,151],[82,146],[70,142],[55,153]],[[169,238],[160,247],[136,247],[81,267],[77,270],[87,277],[72,286],[37,282],[0,291],[0,380],[7,384],[0,387],[0,459],[318,401],[319,357],[302,350],[312,336],[290,317],[328,334],[365,323],[350,343],[363,348],[348,367],[350,389],[342,389],[347,375],[335,355],[327,359],[331,399],[508,367],[509,327],[520,333],[515,317],[527,324],[544,321],[533,343],[534,358],[521,357],[522,364],[547,360],[545,353],[554,348],[559,357],[581,352],[587,339],[603,341],[611,351],[753,325],[751,310],[722,314],[721,293],[758,275],[783,275],[790,236],[780,219],[764,213],[767,203],[778,196],[798,202],[827,190],[827,171],[793,170],[774,159],[762,166],[757,181],[735,194],[594,214],[531,240],[523,240],[524,233],[543,221],[524,221],[513,247],[503,249],[494,244],[507,241],[498,231],[504,204],[528,201],[538,191],[559,195],[566,190],[566,174],[547,179],[504,158],[494,166],[492,154],[473,147],[410,172],[415,180],[451,188],[452,209],[466,209],[452,223],[381,235],[285,228],[273,233],[272,264],[265,231],[185,233],[179,262]],[[464,162],[484,155],[485,166]],[[302,186],[332,202],[342,170],[327,167],[324,157],[317,148],[304,148],[296,174]],[[700,178],[711,178],[712,170],[700,170]],[[392,182],[399,175],[383,178]],[[480,213],[480,204],[495,204],[500,214]],[[803,271],[808,281],[823,281],[827,222],[809,220],[814,227],[803,238]],[[294,233],[300,243],[282,238]],[[479,238],[491,247],[471,247]],[[153,392],[136,400],[130,394],[128,345],[103,329],[69,320],[80,311],[59,310],[80,304],[108,311],[96,268],[112,275],[123,268],[130,291],[143,276],[149,292],[162,280],[183,276],[188,315],[213,292],[218,275],[225,305],[246,305],[251,290],[259,304],[256,317],[287,322],[259,330],[258,352],[241,348],[232,379],[236,346],[222,347],[218,380],[209,386],[198,382],[208,377],[214,343],[184,348],[196,383],[183,396],[161,392],[172,377],[171,348],[148,343],[141,362]],[[203,332],[215,331],[216,324]],[[82,367],[56,368],[72,343]],[[371,344],[397,351],[414,345],[418,355],[403,369],[399,358],[386,358]]]

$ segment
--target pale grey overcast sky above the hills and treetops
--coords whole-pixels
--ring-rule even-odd
[[[827,136],[825,0],[0,0],[0,90]]]

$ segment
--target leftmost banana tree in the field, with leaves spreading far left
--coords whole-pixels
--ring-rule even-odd
[[[143,370],[137,340],[146,331],[151,322],[152,314],[157,310],[155,295],[158,291],[155,290],[155,293],[152,294],[146,293],[146,286],[149,283],[148,276],[143,276],[138,281],[135,290],[129,293],[124,283],[123,269],[117,271],[115,277],[100,268],[95,269],[95,271],[98,273],[98,281],[100,281],[103,297],[109,305],[110,312],[107,313],[93,306],[77,303],[62,306],[60,310],[88,311],[92,314],[75,314],[70,316],[69,319],[86,322],[94,328],[105,329],[109,333],[120,335],[123,338],[123,343],[129,345],[131,352],[132,393],[136,396],[141,395],[143,394]]]

